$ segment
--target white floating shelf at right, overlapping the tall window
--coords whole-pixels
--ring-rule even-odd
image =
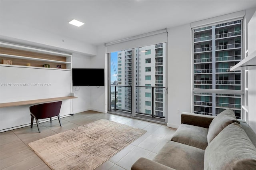
[[[230,67],[230,71],[250,69],[256,69],[256,50],[233,67]]]

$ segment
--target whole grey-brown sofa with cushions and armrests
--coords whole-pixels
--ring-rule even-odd
[[[153,160],[132,170],[256,170],[256,134],[231,109],[216,117],[182,113],[181,125]]]

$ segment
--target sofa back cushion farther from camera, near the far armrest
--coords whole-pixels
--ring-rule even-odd
[[[208,144],[219,134],[221,130],[234,122],[239,123],[239,121],[235,117],[234,111],[232,111],[231,109],[226,109],[218,114],[212,120],[212,123],[210,123],[207,134]]]

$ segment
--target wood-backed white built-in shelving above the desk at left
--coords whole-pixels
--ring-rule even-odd
[[[12,64],[3,64],[3,60],[10,60]],[[60,70],[70,71],[71,61],[72,55],[70,54],[0,42],[1,66],[59,69],[57,65],[61,65]],[[50,68],[44,67],[44,64],[50,65]]]

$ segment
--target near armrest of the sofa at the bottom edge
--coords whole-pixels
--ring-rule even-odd
[[[174,170],[158,162],[154,162],[147,158],[139,158],[133,165],[131,170]]]

